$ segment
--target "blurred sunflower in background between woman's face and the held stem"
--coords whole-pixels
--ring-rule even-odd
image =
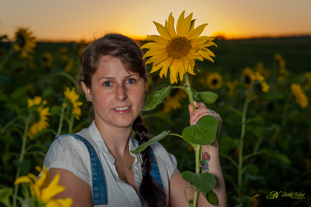
[[[177,109],[181,107],[181,103],[183,102],[183,99],[187,97],[187,94],[184,92],[182,89],[178,89],[176,94],[171,96],[168,94],[165,97],[165,102],[164,102],[164,108],[162,110],[162,113],[167,114],[169,111],[173,109]]]

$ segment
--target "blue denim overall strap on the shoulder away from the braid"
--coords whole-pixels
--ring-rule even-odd
[[[105,207],[108,206],[108,192],[107,192],[107,182],[103,167],[101,166],[100,160],[96,154],[94,147],[85,138],[77,134],[65,134],[58,135],[54,140],[63,136],[73,136],[77,140],[82,141],[87,149],[89,150],[91,156],[91,171],[92,171],[92,201],[94,207]]]

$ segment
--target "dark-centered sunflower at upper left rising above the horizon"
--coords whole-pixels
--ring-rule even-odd
[[[32,32],[28,31],[28,28],[17,28],[15,33],[16,43],[14,44],[14,50],[21,50],[21,58],[27,57],[27,52],[33,53],[33,48],[36,47],[35,37],[31,36]]]

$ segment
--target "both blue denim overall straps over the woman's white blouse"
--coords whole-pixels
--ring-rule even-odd
[[[65,134],[65,135],[58,135],[55,137],[54,140],[58,139],[59,137],[63,136],[73,136],[77,140],[82,141],[87,149],[89,150],[91,156],[91,182],[92,182],[92,201],[94,207],[106,207],[108,206],[108,192],[107,192],[107,182],[105,178],[104,169],[100,163],[100,160],[96,154],[94,147],[83,137],[77,134]],[[138,144],[138,141],[135,140]],[[152,157],[151,161],[151,168],[150,168],[150,175],[156,181],[156,183],[164,190],[160,172],[158,168],[158,164],[156,162],[156,157],[150,148],[150,155]]]

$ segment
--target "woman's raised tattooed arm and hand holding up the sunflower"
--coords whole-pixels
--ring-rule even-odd
[[[189,113],[190,113],[190,125],[192,126],[195,124],[202,116],[204,115],[211,115],[208,111],[209,109],[206,108],[205,104],[194,102],[194,106],[197,108],[195,112],[193,112],[192,105],[189,105]],[[221,118],[219,114],[215,111],[211,110],[213,116],[215,116],[218,120],[218,128],[216,133],[216,140],[213,142],[213,147],[211,145],[203,145],[202,146],[202,154],[203,159],[208,159],[207,164],[202,166],[202,173],[209,172],[213,174],[216,178],[216,186],[212,189],[213,193],[216,195],[217,198],[217,206],[225,207],[227,204],[226,198],[226,189],[225,189],[225,181],[222,176],[220,161],[219,161],[219,154],[218,154],[218,136],[220,133],[220,126],[221,126]],[[204,157],[205,155],[205,157]],[[169,180],[169,206],[183,206],[188,207],[188,203],[184,197],[184,189],[191,185],[189,182],[183,180],[181,177],[181,173],[177,171]],[[186,190],[186,195],[188,200],[193,199],[194,195],[194,187],[188,187]],[[210,203],[204,198],[202,193],[200,192],[198,195],[198,202],[197,206],[210,206]]]

